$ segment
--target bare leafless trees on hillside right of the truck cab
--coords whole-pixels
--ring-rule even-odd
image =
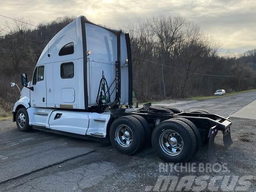
[[[142,100],[208,96],[217,89],[232,92],[255,87],[255,50],[236,57],[219,56],[220,43],[181,16],[137,20],[128,31],[134,90]]]

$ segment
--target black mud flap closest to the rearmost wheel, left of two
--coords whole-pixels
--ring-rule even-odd
[[[217,162],[217,157],[214,151],[214,139],[215,136],[217,135],[218,130],[216,128],[216,126],[210,128],[209,131],[209,143],[208,143],[208,161],[210,162],[210,164],[214,164]]]

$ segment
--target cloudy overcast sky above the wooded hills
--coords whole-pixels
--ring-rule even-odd
[[[222,44],[221,54],[256,48],[256,0],[7,0],[0,14],[32,24],[84,15],[106,26],[125,26],[135,18],[180,14]],[[6,18],[0,17],[0,28]],[[8,20],[11,22],[11,20]]]

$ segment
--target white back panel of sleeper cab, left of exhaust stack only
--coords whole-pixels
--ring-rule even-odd
[[[110,86],[115,80],[115,64],[117,60],[117,37],[114,32],[96,25],[86,23],[86,47],[92,52],[88,56],[88,73],[87,81],[89,86],[88,91],[88,106],[97,105],[96,98],[102,71]],[[114,83],[115,84],[115,83]],[[114,86],[110,88],[110,93]],[[114,102],[115,94],[110,97],[110,102]]]

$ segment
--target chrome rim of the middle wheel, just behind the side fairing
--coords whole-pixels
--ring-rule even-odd
[[[120,146],[128,147],[133,140],[132,130],[127,125],[120,125],[116,128],[115,138]]]

